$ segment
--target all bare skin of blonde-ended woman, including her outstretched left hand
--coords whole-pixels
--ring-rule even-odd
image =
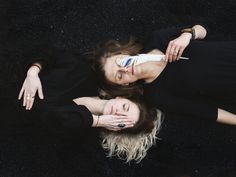
[[[38,62],[33,64],[42,68]],[[39,67],[31,66],[19,93],[18,99],[20,100],[23,97],[23,106],[25,106],[26,110],[32,109],[34,103],[34,98],[32,97],[36,95],[36,92],[38,92],[40,99],[44,99],[39,73]],[[30,99],[27,99],[27,95],[31,96]],[[93,113],[92,127],[104,127],[108,130],[119,131],[133,127],[139,119],[137,105],[127,99],[101,100],[95,97],[82,97],[73,101],[78,105],[85,105]],[[125,127],[118,127],[119,123],[124,123]]]

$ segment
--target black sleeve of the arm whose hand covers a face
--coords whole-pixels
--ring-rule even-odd
[[[91,112],[73,101],[63,104],[42,103],[40,124],[49,132],[59,135],[73,134],[92,126]]]

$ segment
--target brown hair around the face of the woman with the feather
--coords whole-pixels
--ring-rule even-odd
[[[137,55],[142,50],[142,45],[134,37],[130,37],[128,43],[121,44],[116,40],[110,40],[105,43],[100,43],[97,49],[89,53],[90,62],[93,69],[95,70],[100,88],[108,95],[112,96],[124,96],[132,97],[133,95],[142,94],[142,83],[143,81],[137,81],[136,83],[129,84],[128,86],[118,85],[110,82],[104,71],[104,64],[106,59],[118,55]]]

